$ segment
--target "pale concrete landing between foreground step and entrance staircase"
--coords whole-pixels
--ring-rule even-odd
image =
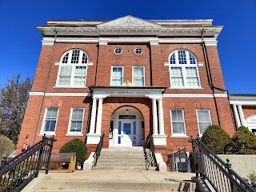
[[[159,172],[152,170],[76,170],[73,173],[66,171],[50,171],[51,180],[62,181],[109,181],[109,182],[171,182],[191,181],[195,174],[178,172]]]

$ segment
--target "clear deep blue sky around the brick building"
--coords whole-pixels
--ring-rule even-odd
[[[207,2],[207,3],[206,3]],[[46,19],[214,19],[224,26],[218,52],[226,89],[256,94],[256,1],[19,1],[0,0],[0,87],[21,73],[34,78]]]

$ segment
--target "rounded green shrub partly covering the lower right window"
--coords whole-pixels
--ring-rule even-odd
[[[219,154],[230,142],[230,135],[226,134],[221,126],[211,125],[202,134],[202,142],[215,153]]]

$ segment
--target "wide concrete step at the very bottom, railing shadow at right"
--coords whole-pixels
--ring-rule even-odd
[[[194,191],[192,182],[45,181],[40,191]]]

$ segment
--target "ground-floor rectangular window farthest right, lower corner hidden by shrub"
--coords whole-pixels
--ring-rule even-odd
[[[197,110],[199,134],[203,134],[207,126],[212,125],[210,110]]]

